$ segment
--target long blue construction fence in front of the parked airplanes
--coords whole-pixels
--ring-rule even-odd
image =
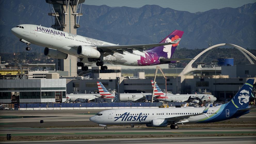
[[[60,108],[60,107],[159,107],[162,102],[119,102],[119,103],[20,103],[20,108]],[[169,102],[170,107],[181,105],[180,102]]]

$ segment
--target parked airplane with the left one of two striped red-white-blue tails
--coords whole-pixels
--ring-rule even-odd
[[[101,82],[97,84],[101,98],[114,99],[115,94],[111,94]],[[120,93],[120,101],[143,101],[146,95],[151,95],[151,93]]]

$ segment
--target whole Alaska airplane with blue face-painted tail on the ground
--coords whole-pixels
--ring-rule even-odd
[[[134,108],[109,109],[97,113],[90,121],[100,126],[123,124],[146,124],[146,126],[178,129],[177,124],[212,123],[230,118],[238,118],[250,113],[249,99],[252,95],[254,79],[248,79],[231,101],[226,104],[206,108]]]

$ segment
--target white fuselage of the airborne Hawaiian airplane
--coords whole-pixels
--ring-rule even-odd
[[[19,26],[24,28],[14,27],[12,28],[12,32],[20,39],[25,39],[30,43],[49,47],[70,55],[74,55],[76,57],[78,57],[78,54],[76,49],[71,48],[73,45],[116,45],[113,43],[108,43],[97,39],[71,34],[38,25],[24,24]],[[103,61],[109,61],[119,65],[139,66],[137,60],[139,60],[141,56],[145,57],[145,53],[138,50],[134,50],[133,53],[114,53],[114,55],[115,56],[106,55],[103,57]],[[92,62],[89,62],[86,58],[83,59],[82,62],[92,64]]]

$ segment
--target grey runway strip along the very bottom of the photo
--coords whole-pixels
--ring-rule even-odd
[[[63,144],[63,143],[86,143],[86,144],[124,144],[124,143],[246,143],[254,144],[256,143],[255,137],[187,137],[187,138],[140,138],[140,139],[93,139],[93,140],[54,140],[54,141],[13,141],[13,142],[2,142],[2,143],[12,143],[12,144],[23,144],[23,143],[34,143],[34,144]]]

